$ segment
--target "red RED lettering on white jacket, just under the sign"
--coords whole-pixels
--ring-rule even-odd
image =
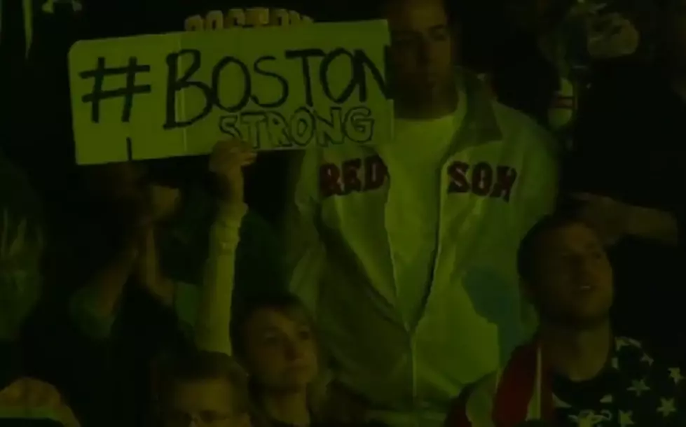
[[[320,166],[320,190],[324,198],[376,190],[387,175],[388,169],[378,155],[345,160],[341,166],[325,163]]]

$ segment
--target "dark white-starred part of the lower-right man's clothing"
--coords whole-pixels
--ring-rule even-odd
[[[553,378],[554,419],[560,427],[686,426],[686,379],[640,342],[615,338],[608,365],[596,378]]]

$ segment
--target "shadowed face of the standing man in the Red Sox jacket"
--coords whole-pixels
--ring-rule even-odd
[[[439,0],[406,0],[389,6],[392,73],[400,98],[427,104],[453,84],[453,41]]]

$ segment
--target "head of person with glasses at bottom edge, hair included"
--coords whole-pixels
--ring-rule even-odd
[[[160,371],[163,427],[250,427],[247,377],[223,353],[196,351],[165,360]]]

